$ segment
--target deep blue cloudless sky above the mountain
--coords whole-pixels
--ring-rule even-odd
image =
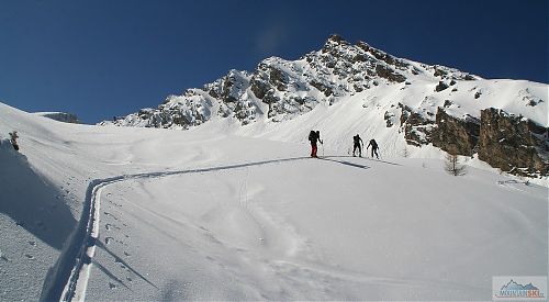
[[[87,123],[337,33],[485,78],[548,79],[547,0],[0,0],[0,101]]]

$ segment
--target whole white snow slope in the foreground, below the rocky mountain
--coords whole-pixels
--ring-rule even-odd
[[[0,103],[21,136],[0,145],[0,299],[490,300],[492,276],[547,275],[547,187],[477,160],[309,158],[292,130],[349,103],[186,132]]]

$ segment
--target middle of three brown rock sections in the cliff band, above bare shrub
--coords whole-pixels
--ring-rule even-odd
[[[438,108],[436,124],[437,127],[433,132],[433,146],[450,154],[467,156],[474,154],[480,133],[478,119],[468,116],[460,120]]]

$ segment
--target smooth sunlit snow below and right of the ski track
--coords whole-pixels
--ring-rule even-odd
[[[507,192],[526,186],[515,183],[504,191],[491,186],[501,205],[484,193],[463,193],[470,181],[435,195],[419,187],[391,190],[377,181],[389,176],[374,169],[414,174],[407,182],[430,174],[335,157],[117,183],[107,193],[112,212],[104,212],[101,232],[107,237],[99,245],[109,250],[100,249],[102,256],[96,257],[107,265],[94,270],[120,276],[92,278],[90,287],[97,290],[90,288],[88,298],[489,299],[491,273],[500,261],[531,255],[512,268],[527,273],[547,256],[537,253],[547,241],[536,234],[536,226],[547,224],[545,215],[528,211],[531,201],[517,203],[527,199]],[[337,181],[341,177],[345,182]],[[406,186],[407,178],[397,180],[414,187]],[[448,176],[435,186],[451,183]],[[542,194],[528,188],[522,193]],[[547,206],[542,199],[535,204]],[[525,221],[523,211],[536,221]],[[495,217],[486,215],[494,212]],[[119,217],[126,216],[132,219],[121,224]],[[506,241],[519,246],[502,253],[507,242],[492,238],[500,232],[512,234]],[[113,292],[100,290],[107,282]]]

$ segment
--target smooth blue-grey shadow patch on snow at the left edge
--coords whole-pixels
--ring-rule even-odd
[[[61,192],[37,175],[26,156],[0,144],[0,213],[36,238],[60,250],[77,221]]]

